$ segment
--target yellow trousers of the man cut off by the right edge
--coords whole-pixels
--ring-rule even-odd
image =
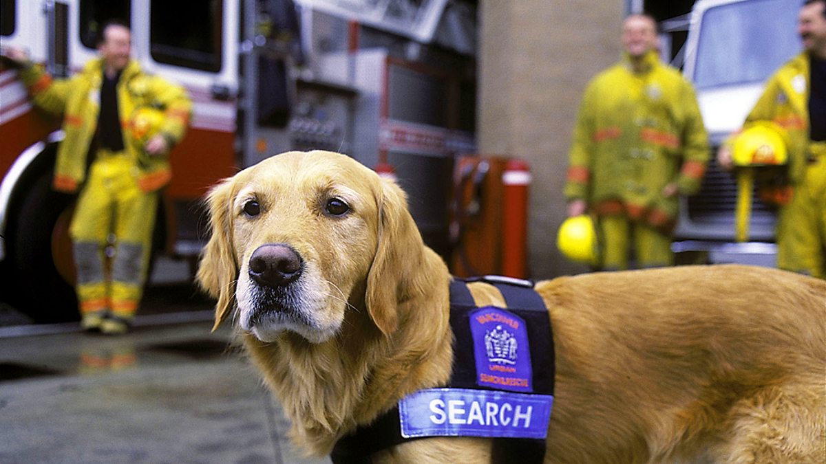
[[[812,145],[814,161],[777,218],[777,267],[826,278],[826,142]]]

